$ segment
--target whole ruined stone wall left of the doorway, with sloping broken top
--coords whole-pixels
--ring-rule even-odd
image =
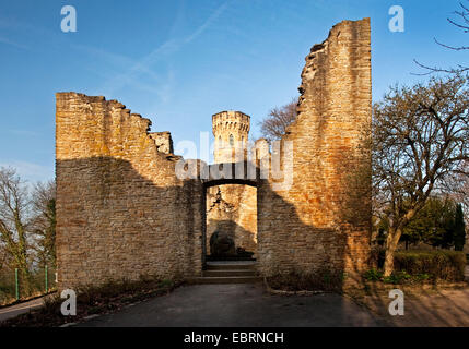
[[[104,97],[57,94],[59,287],[201,272],[202,186],[175,176],[150,120]],[[167,137],[166,137],[167,140]],[[164,143],[164,142],[163,142]]]

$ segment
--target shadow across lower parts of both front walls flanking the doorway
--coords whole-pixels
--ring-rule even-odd
[[[179,181],[150,164],[139,170],[148,173],[142,176],[129,161],[112,157],[57,160],[56,171],[60,288],[201,274],[206,196],[200,180]],[[363,232],[303,224],[266,181],[257,195],[261,275],[363,270],[349,246],[365,241]],[[273,229],[279,219],[286,227],[281,231]]]

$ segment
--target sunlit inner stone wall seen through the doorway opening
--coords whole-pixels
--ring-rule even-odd
[[[210,238],[222,232],[236,248],[257,250],[257,190],[249,185],[225,184],[207,190],[207,252]]]

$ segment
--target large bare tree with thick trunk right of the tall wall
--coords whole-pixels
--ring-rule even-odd
[[[385,275],[411,219],[432,192],[455,173],[468,176],[468,80],[433,77],[427,84],[394,87],[374,105],[372,123],[375,209],[389,218]],[[385,207],[385,208],[383,208]]]

